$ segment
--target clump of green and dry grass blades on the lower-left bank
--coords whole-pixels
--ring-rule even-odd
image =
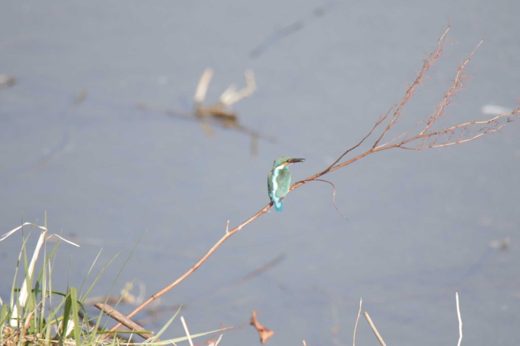
[[[29,226],[32,229],[27,236],[25,236],[24,228]],[[29,259],[27,241],[34,229],[40,230],[40,236],[34,251],[32,252],[31,259]],[[2,346],[27,344],[171,344],[172,342],[190,340],[191,338],[224,330],[213,330],[197,335],[189,335],[187,333],[186,336],[161,341],[159,337],[174,321],[180,308],[157,334],[154,334],[153,331],[149,330],[118,330],[114,332],[105,330],[109,319],[103,315],[102,311],[95,316],[89,316],[87,309],[85,308],[85,300],[101,277],[103,271],[105,271],[118,254],[115,254],[108,263],[103,266],[96,278],[93,280],[92,285],[90,285],[84,293],[83,286],[89,275],[92,273],[101,251],[94,259],[92,266],[90,266],[90,269],[79,288],[69,286],[68,284],[66,289],[63,291],[54,290],[52,278],[58,245],[62,241],[67,242],[72,246],[79,245],[63,239],[58,234],[48,234],[46,215],[44,226],[38,226],[36,223],[22,223],[21,226],[0,237],[0,241],[17,231],[21,231],[22,233],[22,245],[17,258],[10,297],[8,300],[3,300],[2,297],[0,297],[0,345]],[[48,243],[47,240],[53,236],[58,237],[59,240],[48,249],[47,246],[51,243]],[[132,253],[134,251],[132,251]],[[132,256],[132,253],[129,257]],[[41,258],[43,263],[40,271],[36,273],[35,265],[38,258]],[[22,270],[20,270],[20,268]],[[123,268],[115,278],[112,288],[118,280]],[[20,274],[20,272],[22,273]],[[22,285],[18,287],[17,282],[19,282],[20,279],[23,281]],[[131,285],[126,285],[125,290],[128,290],[130,286]],[[126,292],[123,292],[115,306],[117,306],[121,299],[123,299],[125,293]],[[106,305],[109,297],[110,292],[103,303],[103,307]],[[139,334],[151,335],[151,337],[144,339],[143,337],[138,336]]]

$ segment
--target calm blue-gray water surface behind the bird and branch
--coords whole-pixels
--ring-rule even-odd
[[[148,297],[184,273],[224,233],[268,202],[266,176],[279,155],[304,157],[293,179],[314,174],[357,143],[400,101],[445,30],[452,45],[398,129],[441,100],[457,64],[480,38],[474,78],[444,124],[485,119],[484,105],[513,108],[520,95],[516,1],[473,2],[24,2],[0,11],[0,219],[25,221],[81,244],[62,244],[55,288],[79,286],[121,252],[94,294],[106,294],[128,254],[124,282]],[[207,100],[255,72],[258,91],[233,108],[240,122],[278,139],[259,141],[140,110],[189,110],[204,68]],[[81,90],[86,99],[74,107]],[[388,150],[291,193],[231,237],[161,305],[187,303],[190,331],[247,324],[252,310],[276,334],[269,344],[349,344],[359,304],[387,344],[520,343],[518,124],[466,145]],[[373,143],[369,142],[369,143]],[[368,145],[368,144],[367,144]],[[4,231],[0,232],[3,233]],[[34,244],[36,237],[33,237]],[[490,246],[510,239],[507,250]],[[20,236],[0,243],[0,296],[9,295]],[[252,280],[245,275],[283,254]],[[60,285],[59,287],[57,287]],[[129,312],[131,306],[122,306]],[[93,310],[94,311],[94,310]],[[159,330],[167,312],[146,327]],[[147,317],[142,313],[139,319]],[[332,333],[336,327],[337,333]],[[339,327],[339,329],[337,328]],[[179,321],[166,337],[183,335]],[[365,320],[360,344],[376,344]],[[256,344],[253,327],[224,344]]]

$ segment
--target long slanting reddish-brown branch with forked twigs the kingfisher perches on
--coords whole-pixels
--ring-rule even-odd
[[[485,134],[494,133],[497,131],[500,131],[506,124],[513,121],[513,117],[517,117],[518,112],[520,111],[520,104],[516,106],[512,112],[499,114],[492,118],[487,118],[484,120],[473,120],[473,121],[467,121],[463,123],[456,124],[454,126],[444,128],[444,129],[438,129],[433,130],[432,127],[436,122],[444,115],[444,112],[446,108],[451,103],[451,100],[454,95],[456,95],[458,92],[463,90],[463,82],[466,79],[466,76],[464,75],[464,68],[466,67],[467,63],[471,60],[473,53],[475,52],[476,48],[482,44],[482,40],[478,43],[478,45],[475,47],[475,49],[471,52],[470,56],[462,61],[462,63],[459,65],[456,71],[456,76],[454,80],[452,81],[451,87],[444,93],[443,99],[441,102],[437,104],[436,107],[434,107],[433,112],[431,115],[426,119],[426,121],[419,121],[415,126],[413,126],[411,129],[408,129],[401,134],[395,136],[391,140],[385,140],[385,136],[387,133],[395,127],[395,124],[397,122],[397,119],[402,115],[402,110],[404,109],[404,106],[406,103],[408,103],[411,98],[415,94],[415,90],[417,89],[417,86],[421,84],[421,82],[425,78],[425,74],[427,71],[429,71],[435,61],[440,57],[441,52],[444,50],[446,46],[446,34],[450,30],[450,25],[448,24],[448,27],[446,31],[440,36],[440,38],[437,41],[437,47],[436,49],[431,52],[423,61],[423,67],[422,70],[419,72],[415,80],[412,82],[412,85],[407,89],[405,92],[405,95],[403,96],[402,100],[389,108],[388,112],[386,114],[383,114],[379,117],[379,119],[375,122],[372,129],[365,135],[363,138],[353,147],[347,149],[344,151],[343,154],[340,155],[339,158],[337,158],[334,163],[332,163],[329,167],[327,167],[325,170],[316,173],[313,176],[310,176],[300,182],[296,182],[293,184],[289,191],[292,191],[310,181],[313,181],[320,176],[327,174],[329,172],[335,171],[337,169],[340,169],[342,167],[345,167],[346,165],[349,165],[367,155],[376,153],[378,151],[383,151],[387,149],[392,148],[401,148],[401,149],[415,149],[415,150],[422,150],[422,149],[429,149],[429,148],[439,148],[439,147],[446,147],[454,144],[462,144],[466,142],[473,141],[477,139],[480,136],[483,136]],[[519,102],[520,103],[520,102]],[[340,161],[345,157],[350,151],[353,151],[354,149],[358,148],[367,140],[369,136],[372,135],[374,130],[378,128],[383,122],[386,121],[386,127],[384,130],[381,131],[381,134],[378,136],[378,139],[374,141],[374,144],[368,149],[367,151],[358,154],[357,156],[350,158],[346,161],[343,161],[340,163]],[[420,128],[420,130],[416,130],[419,128],[419,125],[423,124],[423,127]],[[415,131],[415,134],[414,134]],[[417,132],[419,131],[419,132]],[[386,142],[385,142],[386,141]],[[383,143],[383,144],[381,144]],[[172,289],[176,285],[178,285],[181,281],[186,279],[192,272],[197,270],[203,262],[209,258],[217,248],[222,245],[229,237],[231,237],[236,232],[240,231],[245,226],[249,225],[251,222],[253,222],[255,219],[257,219],[259,216],[265,214],[268,212],[269,208],[272,206],[272,202],[269,202],[269,204],[265,205],[261,210],[259,210],[256,214],[236,226],[235,228],[228,230],[226,229],[226,232],[222,238],[220,238],[215,245],[204,255],[201,259],[199,259],[196,264],[194,264],[188,271],[186,271],[183,275],[179,276],[178,279],[173,281],[171,284],[167,285],[163,289],[161,289],[159,292],[152,295],[150,298],[148,298],[145,302],[143,302],[139,307],[137,307],[134,311],[132,311],[128,317],[134,316],[136,313],[138,313],[141,309],[146,307],[150,302],[152,302],[154,299],[160,297],[164,293],[168,292],[168,290]],[[111,330],[115,330],[120,325],[114,326]]]

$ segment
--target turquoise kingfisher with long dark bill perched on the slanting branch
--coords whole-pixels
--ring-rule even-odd
[[[288,156],[280,156],[272,164],[272,171],[267,176],[267,191],[275,210],[281,212],[283,209],[282,199],[291,187],[291,172],[289,165],[291,163],[303,162],[305,159],[291,159]]]

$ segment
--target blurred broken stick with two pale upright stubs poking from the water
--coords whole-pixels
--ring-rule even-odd
[[[203,102],[206,99],[207,89],[213,78],[213,70],[206,68],[199,79],[195,94],[193,95],[193,112],[178,112],[173,109],[159,108],[146,103],[139,103],[136,106],[142,110],[153,110],[154,112],[165,113],[172,117],[198,121],[202,130],[208,136],[215,135],[215,132],[211,128],[212,125],[248,134],[251,137],[251,155],[256,156],[258,151],[258,139],[269,142],[276,142],[276,139],[242,126],[238,122],[238,116],[232,111],[233,104],[251,96],[257,89],[253,71],[246,70],[244,74],[246,84],[244,88],[239,90],[234,84],[231,84],[222,95],[220,95],[216,103],[204,106]]]

